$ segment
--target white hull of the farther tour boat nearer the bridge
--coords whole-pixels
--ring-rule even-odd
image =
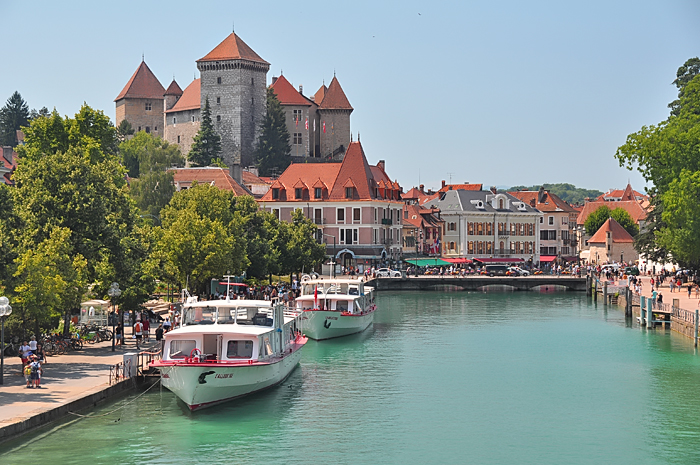
[[[373,307],[362,314],[346,314],[327,310],[306,310],[302,316],[306,337],[322,341],[364,331],[374,321]]]

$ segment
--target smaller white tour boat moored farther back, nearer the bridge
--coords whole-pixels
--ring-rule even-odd
[[[304,335],[316,340],[364,331],[377,310],[374,288],[363,278],[304,277],[296,306],[303,312]]]

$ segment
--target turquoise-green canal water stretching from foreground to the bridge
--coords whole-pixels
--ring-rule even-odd
[[[0,463],[700,463],[700,355],[680,335],[582,294],[378,304],[373,328],[310,341],[277,388],[190,414],[156,387],[4,444]]]

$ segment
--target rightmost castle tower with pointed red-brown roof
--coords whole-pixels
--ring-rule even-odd
[[[350,113],[353,108],[335,76],[328,89],[323,86],[316,92],[314,102],[318,104],[321,156],[343,156],[350,144]]]

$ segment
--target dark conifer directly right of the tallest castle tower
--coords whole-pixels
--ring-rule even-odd
[[[275,172],[283,172],[291,163],[289,158],[291,151],[284,110],[277,100],[275,91],[268,87],[267,113],[263,119],[255,149],[255,159],[260,175],[271,176]]]

